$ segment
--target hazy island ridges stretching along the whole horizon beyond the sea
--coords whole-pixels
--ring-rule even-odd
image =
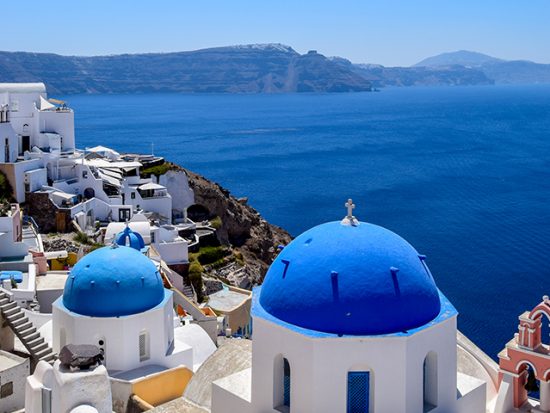
[[[458,51],[411,67],[300,54],[281,44],[178,53],[61,56],[0,52],[0,82],[46,83],[56,94],[364,92],[386,86],[550,83],[550,65]]]

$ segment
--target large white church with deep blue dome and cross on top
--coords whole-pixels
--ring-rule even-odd
[[[486,383],[457,370],[457,311],[426,257],[346,205],[254,290],[252,367],[213,383],[212,412],[485,412]]]

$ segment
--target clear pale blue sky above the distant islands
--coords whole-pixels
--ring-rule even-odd
[[[284,43],[410,65],[474,50],[550,63],[550,0],[3,1],[0,50],[101,55]]]

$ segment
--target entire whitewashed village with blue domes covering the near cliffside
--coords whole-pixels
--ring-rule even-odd
[[[0,84],[0,172],[0,413],[550,412],[548,296],[497,364],[352,200],[273,246],[261,287],[203,289],[200,264],[225,261],[186,173],[77,149],[42,83]],[[67,232],[81,248],[45,249]]]

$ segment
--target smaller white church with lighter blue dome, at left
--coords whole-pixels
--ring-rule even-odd
[[[113,374],[149,364],[193,366],[192,349],[174,339],[172,294],[139,248],[97,249],[74,266],[53,304],[53,348],[94,344]]]

